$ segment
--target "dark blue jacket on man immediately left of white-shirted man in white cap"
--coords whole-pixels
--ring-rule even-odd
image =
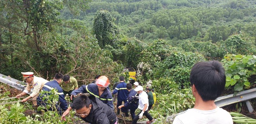
[[[128,109],[137,109],[138,108],[138,99],[135,98],[137,92],[133,89],[130,90],[127,97],[127,102],[124,104]]]

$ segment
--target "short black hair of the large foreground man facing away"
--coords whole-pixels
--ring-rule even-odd
[[[215,100],[225,88],[225,70],[219,61],[198,62],[191,69],[190,83],[203,101]]]

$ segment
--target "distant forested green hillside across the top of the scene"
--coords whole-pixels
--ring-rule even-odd
[[[86,12],[65,19],[80,19],[92,28],[98,10],[108,10],[120,31],[144,42],[165,39],[222,42],[243,32],[255,42],[256,3],[254,0],[93,0]]]

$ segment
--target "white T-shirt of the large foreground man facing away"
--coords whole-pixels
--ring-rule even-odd
[[[233,124],[231,115],[217,107],[213,110],[188,109],[175,117],[173,124]]]

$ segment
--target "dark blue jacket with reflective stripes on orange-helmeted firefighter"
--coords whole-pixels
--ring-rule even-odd
[[[112,109],[114,108],[112,95],[108,88],[106,88],[101,96],[99,96],[98,86],[95,83],[91,83],[89,85],[82,85],[77,90],[74,90],[71,95],[76,95],[78,93],[90,93],[90,95],[99,98],[104,104],[107,104]]]

